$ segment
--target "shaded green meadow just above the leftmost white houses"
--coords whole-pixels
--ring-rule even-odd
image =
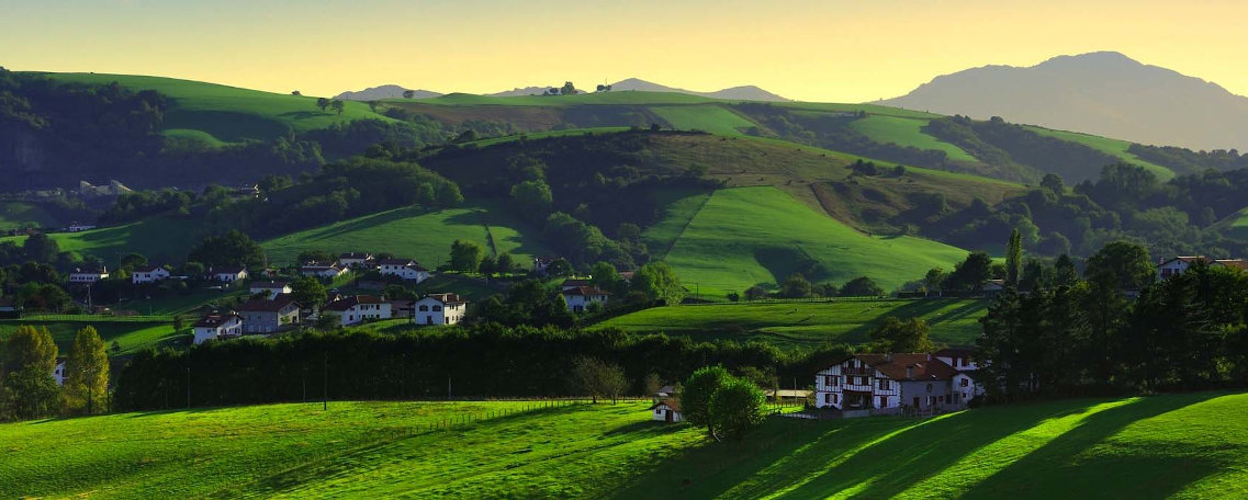
[[[203,237],[202,231],[185,218],[161,216],[122,226],[105,227],[77,233],[49,234],[62,252],[79,256],[91,254],[115,263],[121,256],[139,252],[154,262],[181,262],[186,253]],[[25,236],[4,237],[21,244]]]

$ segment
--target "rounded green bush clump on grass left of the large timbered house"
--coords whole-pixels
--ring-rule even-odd
[[[748,379],[733,377],[724,367],[694,372],[680,392],[680,413],[690,424],[705,426],[716,440],[740,440],[763,423],[763,389]]]

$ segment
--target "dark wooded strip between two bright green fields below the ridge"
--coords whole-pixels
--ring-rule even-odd
[[[892,142],[880,143],[859,133],[850,125],[856,120],[866,118],[865,111],[842,116],[821,113],[811,117],[771,103],[739,103],[734,107],[765,127],[764,130],[749,131],[753,135],[775,136],[791,142],[920,167],[963,168],[950,161],[948,153],[943,151],[920,150],[915,146],[900,146]]]

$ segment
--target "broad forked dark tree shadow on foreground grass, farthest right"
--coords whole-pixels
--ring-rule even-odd
[[[1164,499],[1181,491],[1222,466],[1213,460],[1196,460],[1187,454],[1141,456],[1138,450],[1111,450],[1082,455],[1104,444],[1128,425],[1188,405],[1199,404],[1221,393],[1177,394],[1143,398],[1136,403],[1088,416],[1021,460],[997,471],[967,491],[968,498],[1078,498],[1094,493],[1099,498]],[[1117,451],[1117,453],[1114,453]]]

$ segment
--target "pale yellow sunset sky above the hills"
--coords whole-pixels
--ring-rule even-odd
[[[331,96],[628,77],[802,101],[1113,50],[1248,95],[1242,0],[0,0],[0,66]]]

